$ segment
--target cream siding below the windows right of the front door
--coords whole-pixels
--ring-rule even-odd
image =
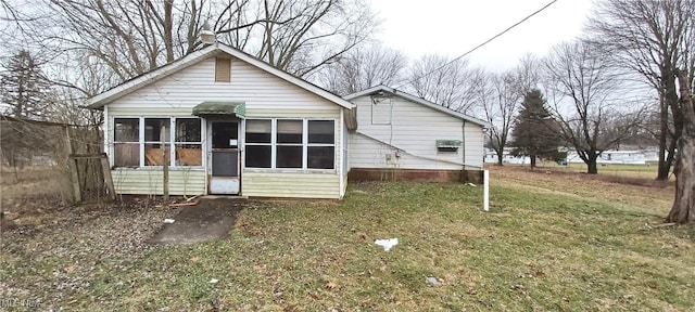
[[[247,172],[241,194],[250,197],[340,198],[336,173]]]

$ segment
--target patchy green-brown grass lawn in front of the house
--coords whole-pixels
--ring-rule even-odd
[[[119,252],[80,243],[94,231],[77,229],[110,214],[26,238],[7,233],[0,289],[9,290],[0,291],[41,310],[88,311],[695,307],[695,229],[655,226],[672,187],[500,168],[491,177],[490,212],[480,186],[357,183],[340,203],[253,202],[224,242]],[[54,236],[64,245],[51,246]],[[400,244],[389,252],[374,245],[391,237]],[[91,251],[79,253],[79,244]],[[70,257],[53,251],[73,245]]]

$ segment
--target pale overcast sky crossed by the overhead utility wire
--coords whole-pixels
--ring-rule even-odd
[[[383,20],[377,36],[410,58],[456,57],[541,9],[551,0],[371,0]],[[504,70],[581,32],[591,0],[558,0],[543,12],[469,54],[472,65]]]

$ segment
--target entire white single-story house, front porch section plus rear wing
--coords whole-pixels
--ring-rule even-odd
[[[482,122],[393,89],[383,89],[397,95],[393,115],[367,122],[369,106],[354,108],[372,105],[376,90],[342,99],[214,43],[93,96],[88,107],[104,112],[104,151],[119,194],[163,194],[165,161],[172,195],[309,198],[342,198],[351,165],[380,168],[363,165],[364,157],[374,157],[364,148],[397,151],[401,168],[482,166]],[[410,119],[392,119],[407,117],[401,106],[413,105],[420,110]],[[386,128],[392,135],[378,131]],[[416,142],[407,143],[408,136]],[[433,153],[420,152],[419,144]]]

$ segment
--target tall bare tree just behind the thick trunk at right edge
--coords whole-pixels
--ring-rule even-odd
[[[610,51],[617,65],[637,75],[659,95],[658,180],[667,180],[683,133],[675,70],[690,83],[695,73],[695,1],[611,0],[597,2],[589,23],[591,40]],[[691,87],[692,90],[692,87]]]

